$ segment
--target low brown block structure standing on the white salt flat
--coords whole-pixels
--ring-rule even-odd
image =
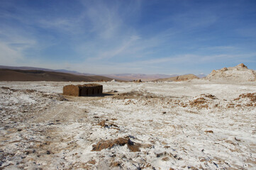
[[[100,84],[67,85],[63,87],[63,94],[69,96],[101,95],[103,86]]]

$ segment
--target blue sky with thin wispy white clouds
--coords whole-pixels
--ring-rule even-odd
[[[255,0],[1,0],[0,64],[94,74],[256,69]]]

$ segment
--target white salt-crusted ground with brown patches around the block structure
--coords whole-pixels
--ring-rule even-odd
[[[0,169],[256,167],[256,82],[67,84],[0,82]]]

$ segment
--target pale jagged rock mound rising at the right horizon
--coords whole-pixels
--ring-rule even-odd
[[[256,71],[248,69],[241,63],[235,67],[224,67],[214,70],[205,78],[208,80],[226,80],[226,81],[256,81]]]

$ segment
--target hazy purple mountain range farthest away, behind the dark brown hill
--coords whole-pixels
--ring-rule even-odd
[[[69,71],[67,69],[45,69],[45,68],[39,68],[39,67],[11,67],[11,66],[3,66],[0,65],[0,69],[20,69],[20,70],[40,70],[45,72],[60,72],[60,73],[67,73],[67,74],[75,74],[80,76],[103,76],[103,77],[109,77],[111,79],[120,79],[125,81],[133,81],[141,79],[142,81],[153,81],[156,79],[168,79],[171,77],[177,77],[178,74],[89,74],[89,73],[81,73],[76,71]],[[196,77],[202,78],[206,77],[204,74],[196,75]]]

